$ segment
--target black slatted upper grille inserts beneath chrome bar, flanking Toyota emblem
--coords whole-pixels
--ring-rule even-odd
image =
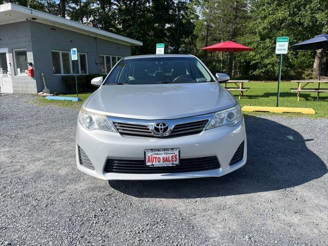
[[[180,137],[201,133],[209,122],[208,119],[177,124],[173,127],[168,136],[162,137]],[[161,137],[155,136],[147,125],[130,124],[126,122],[114,121],[114,126],[122,135],[139,136],[139,137]]]

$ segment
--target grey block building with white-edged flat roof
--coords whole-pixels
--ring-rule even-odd
[[[142,42],[15,4],[0,5],[0,87],[2,93],[37,93],[46,85],[66,91],[63,75],[106,74],[132,46]],[[28,76],[33,68],[33,76]]]

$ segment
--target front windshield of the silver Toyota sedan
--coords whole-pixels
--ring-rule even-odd
[[[213,82],[195,57],[145,57],[122,59],[105,85],[146,85]]]

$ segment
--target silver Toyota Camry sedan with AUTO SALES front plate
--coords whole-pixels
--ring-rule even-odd
[[[77,168],[106,180],[219,177],[242,167],[240,106],[193,55],[122,58],[84,102]]]

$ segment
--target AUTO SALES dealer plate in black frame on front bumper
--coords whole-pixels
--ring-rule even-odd
[[[161,158],[160,162],[154,162],[152,164],[148,164],[148,155],[150,153],[156,153],[156,158]],[[161,154],[160,152],[164,152]],[[171,152],[171,153],[170,153]],[[177,154],[177,161],[170,161],[168,163],[163,162],[163,157],[170,157],[170,160],[172,158],[172,155]],[[144,150],[144,156],[145,156],[145,167],[150,168],[163,168],[163,167],[176,167],[180,166],[180,148],[162,148],[162,149],[145,149]],[[158,160],[158,159],[157,159]]]

